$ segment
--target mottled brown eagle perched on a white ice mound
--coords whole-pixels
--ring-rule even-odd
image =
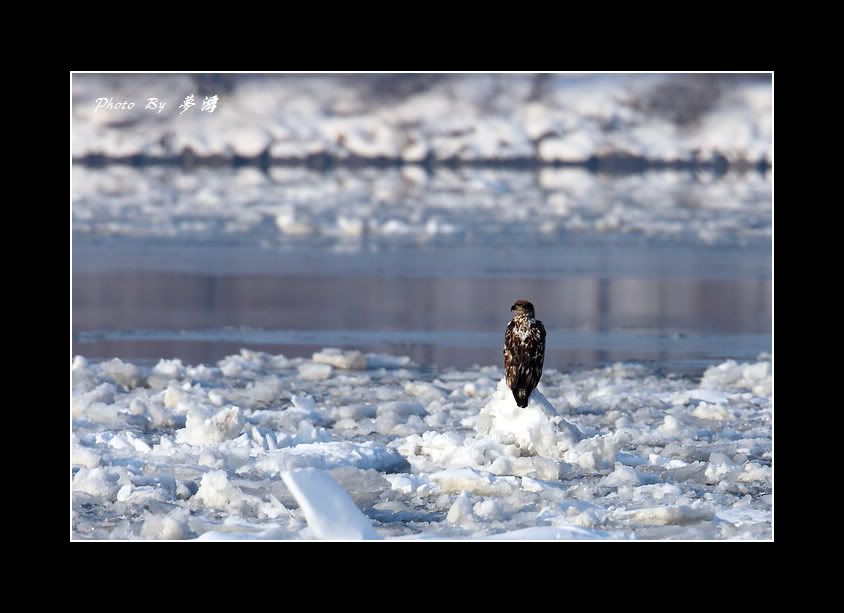
[[[504,333],[504,376],[516,404],[524,408],[542,378],[545,326],[536,319],[533,305],[527,300],[517,300],[510,310],[516,315]]]

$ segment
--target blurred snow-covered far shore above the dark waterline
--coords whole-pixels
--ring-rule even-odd
[[[191,94],[219,103],[213,113],[180,112]],[[766,167],[771,94],[764,75],[77,74],[72,155],[87,163]],[[98,108],[102,97],[119,108]],[[144,110],[151,97],[169,104]]]

